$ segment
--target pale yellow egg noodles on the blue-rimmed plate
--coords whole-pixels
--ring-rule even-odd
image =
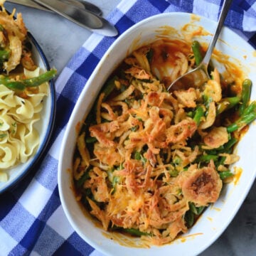
[[[33,71],[33,76],[38,74],[39,68]],[[0,169],[25,163],[36,152],[40,139],[34,124],[40,119],[46,95],[47,83],[28,92],[26,98],[0,85]]]

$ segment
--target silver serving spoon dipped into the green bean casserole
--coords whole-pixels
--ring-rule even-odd
[[[223,27],[223,23],[225,21],[225,17],[228,14],[228,10],[231,3],[232,3],[232,0],[224,1],[223,7],[220,11],[220,17],[218,19],[217,27],[215,28],[215,32],[213,33],[213,37],[211,38],[210,44],[206,51],[206,55],[204,56],[201,63],[198,65],[197,68],[194,68],[193,70],[188,71],[187,73],[181,75],[179,78],[171,82],[171,85],[169,85],[169,87],[167,88],[168,91],[173,86],[175,87],[175,90],[176,90],[180,88],[182,85],[186,85],[186,87],[191,87],[195,84],[196,86],[200,86],[203,84],[203,82],[206,82],[206,80],[210,80],[210,76],[207,70],[208,64],[210,62],[210,57],[213,53],[215,43],[218,40],[218,36],[220,35],[220,31]]]

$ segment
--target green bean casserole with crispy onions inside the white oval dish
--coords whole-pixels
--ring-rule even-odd
[[[134,50],[76,127],[76,198],[105,230],[169,243],[233,178],[234,146],[256,118],[252,82],[211,65],[210,80],[166,91],[203,52],[168,38]]]

